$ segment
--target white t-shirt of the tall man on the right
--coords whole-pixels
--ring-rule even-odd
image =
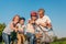
[[[51,23],[51,19],[47,16],[47,15],[44,15],[42,19],[41,18],[38,18],[37,20],[36,20],[36,23],[37,24],[40,24],[40,23]],[[42,25],[40,25],[41,28],[42,28],[42,30],[44,30],[44,31],[47,31],[44,26],[42,26]]]

